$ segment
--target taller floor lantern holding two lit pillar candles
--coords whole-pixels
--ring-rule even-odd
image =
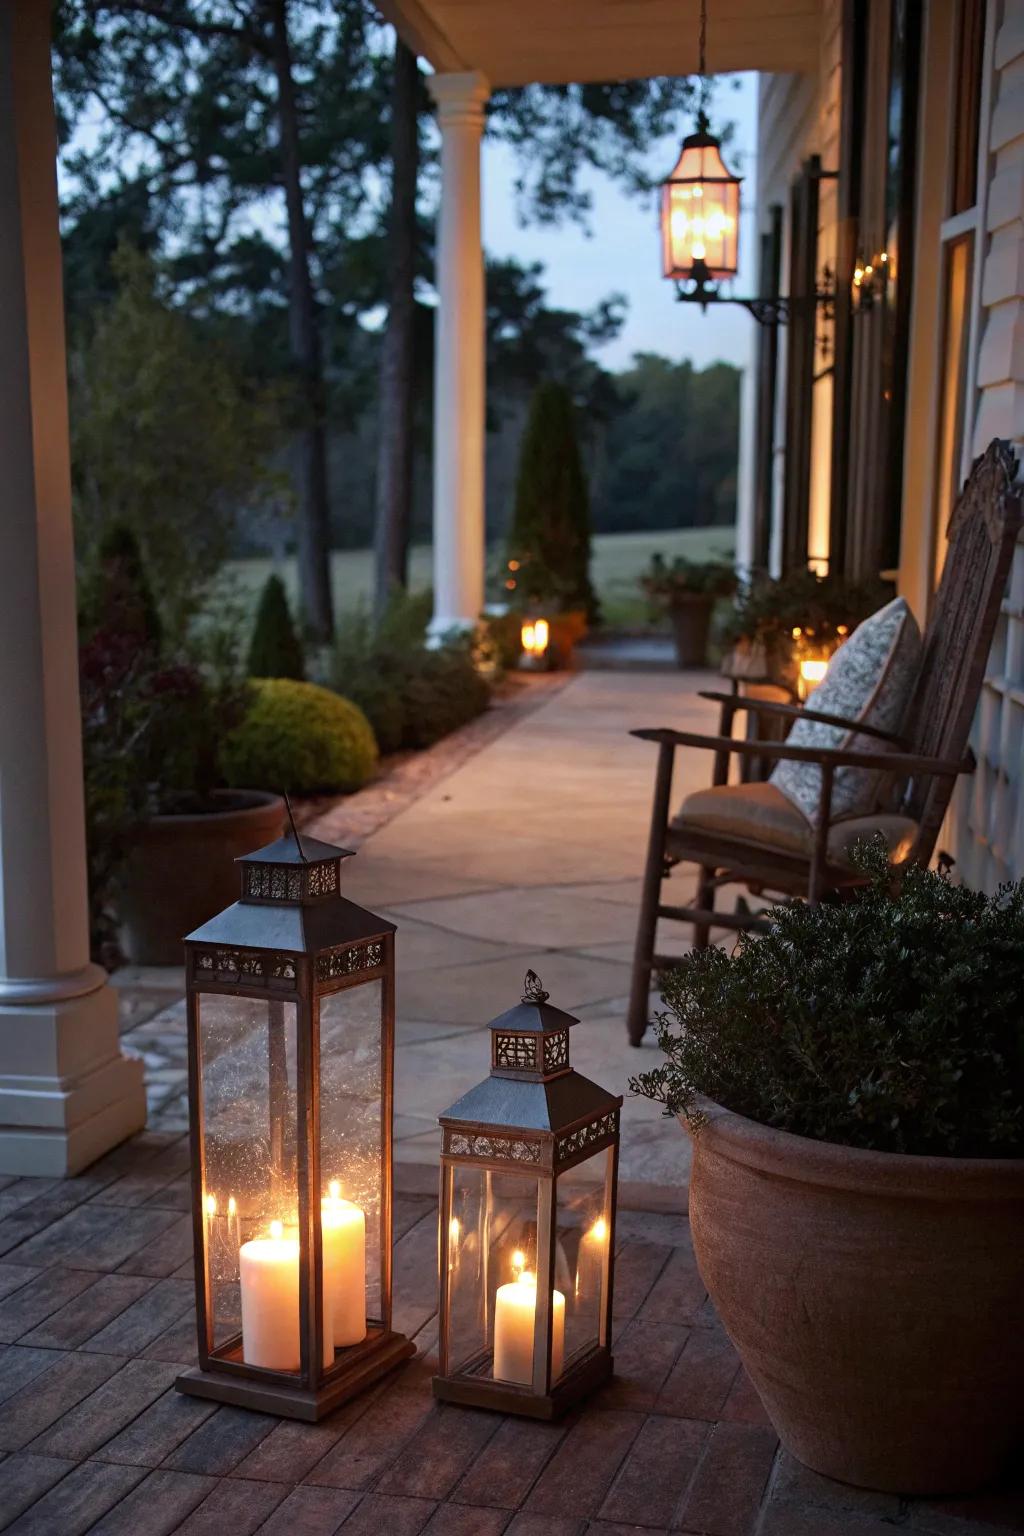
[[[178,1390],[315,1421],[391,1332],[395,928],[292,831],[186,938],[200,1367]]]

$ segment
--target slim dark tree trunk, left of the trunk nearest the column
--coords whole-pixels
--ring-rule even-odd
[[[299,126],[287,0],[266,0],[266,5],[278,81],[281,175],[289,220],[289,332],[304,416],[296,442],[299,591],[306,628],[315,641],[327,644],[333,639],[335,616],[330,591],[330,507],[319,316],[310,275],[310,232],[302,201]]]

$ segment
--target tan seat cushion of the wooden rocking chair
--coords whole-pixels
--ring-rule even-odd
[[[722,833],[775,852],[811,857],[814,828],[806,816],[788,800],[774,783],[725,783],[711,790],[694,790],[672,817],[676,833]],[[829,828],[829,863],[851,868],[851,852],[858,842],[878,833],[886,839],[889,857],[901,863],[910,852],[917,822],[909,816],[878,811],[874,816],[851,816]]]

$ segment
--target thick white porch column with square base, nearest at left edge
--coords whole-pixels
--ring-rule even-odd
[[[146,1121],[89,963],[48,0],[0,6],[0,1174],[64,1175]],[[130,444],[126,442],[126,452]]]

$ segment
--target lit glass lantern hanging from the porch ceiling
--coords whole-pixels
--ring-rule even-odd
[[[722,158],[722,144],[700,114],[683,140],[676,169],[662,183],[662,270],[674,283],[703,290],[734,278],[740,244],[740,177]]]

